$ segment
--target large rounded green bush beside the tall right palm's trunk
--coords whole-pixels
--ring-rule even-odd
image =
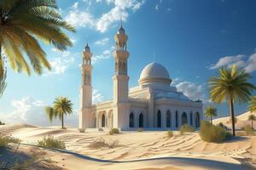
[[[224,127],[212,125],[210,122],[202,121],[199,132],[201,139],[206,142],[219,143],[230,137],[230,133]]]

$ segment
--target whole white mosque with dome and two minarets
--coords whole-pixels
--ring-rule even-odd
[[[150,63],[143,68],[138,86],[128,87],[128,37],[121,25],[114,36],[115,71],[113,99],[92,105],[91,57],[88,44],[84,48],[82,86],[80,89],[79,128],[112,128],[121,130],[172,129],[183,124],[200,127],[203,119],[201,100],[193,101],[177,88],[163,65]]]

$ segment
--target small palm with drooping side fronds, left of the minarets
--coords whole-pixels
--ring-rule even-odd
[[[58,97],[54,101],[53,107],[45,107],[46,114],[49,116],[49,122],[52,122],[53,118],[59,116],[61,120],[61,127],[64,128],[64,115],[70,115],[73,112],[73,103],[66,97]]]

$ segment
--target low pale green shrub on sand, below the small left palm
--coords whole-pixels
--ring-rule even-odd
[[[44,148],[66,149],[65,143],[61,140],[54,139],[53,136],[45,137],[43,140],[38,140],[38,146]]]

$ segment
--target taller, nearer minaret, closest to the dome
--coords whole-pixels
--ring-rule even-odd
[[[129,111],[130,104],[128,98],[128,82],[127,62],[129,52],[126,50],[126,42],[128,40],[125,29],[122,24],[117,34],[114,36],[116,48],[113,52],[115,71],[113,76],[113,127],[128,128],[129,127]]]

